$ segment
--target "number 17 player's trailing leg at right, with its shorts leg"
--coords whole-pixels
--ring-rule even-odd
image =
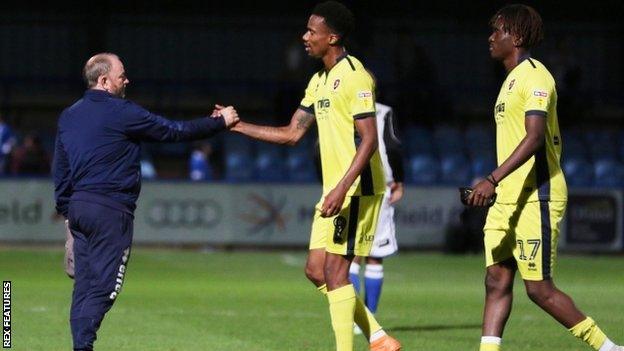
[[[559,224],[564,212],[565,202],[541,201],[527,205],[520,217],[518,240],[524,243],[524,252],[519,270],[527,294],[535,304],[595,350],[617,350],[596,322],[585,316],[552,280]],[[534,233],[539,233],[539,237],[531,237],[535,236]]]

